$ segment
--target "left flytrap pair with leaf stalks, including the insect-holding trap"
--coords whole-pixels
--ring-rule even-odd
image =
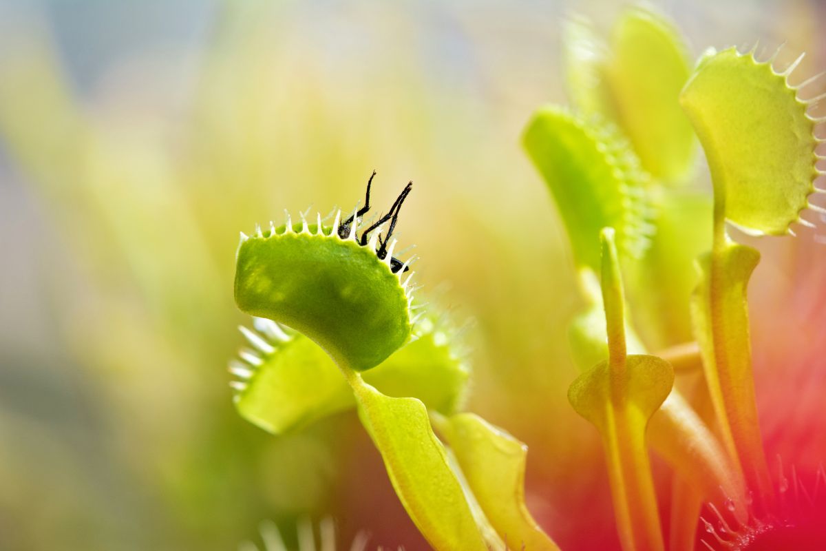
[[[415,304],[409,264],[392,256],[410,187],[368,226],[369,187],[331,226],[288,217],[242,235],[235,298],[254,329],[241,328],[251,348],[230,363],[241,416],[278,435],[355,406],[435,549],[557,549],[525,507],[525,445],[458,413],[469,370],[455,330]]]

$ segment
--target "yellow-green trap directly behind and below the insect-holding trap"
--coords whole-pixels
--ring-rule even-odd
[[[410,343],[363,373],[392,397],[418,397],[430,411],[450,415],[463,405],[470,368],[448,321],[425,313]],[[230,362],[235,406],[244,419],[282,435],[356,406],[353,392],[323,349],[274,321],[254,318],[240,327],[252,349]]]

